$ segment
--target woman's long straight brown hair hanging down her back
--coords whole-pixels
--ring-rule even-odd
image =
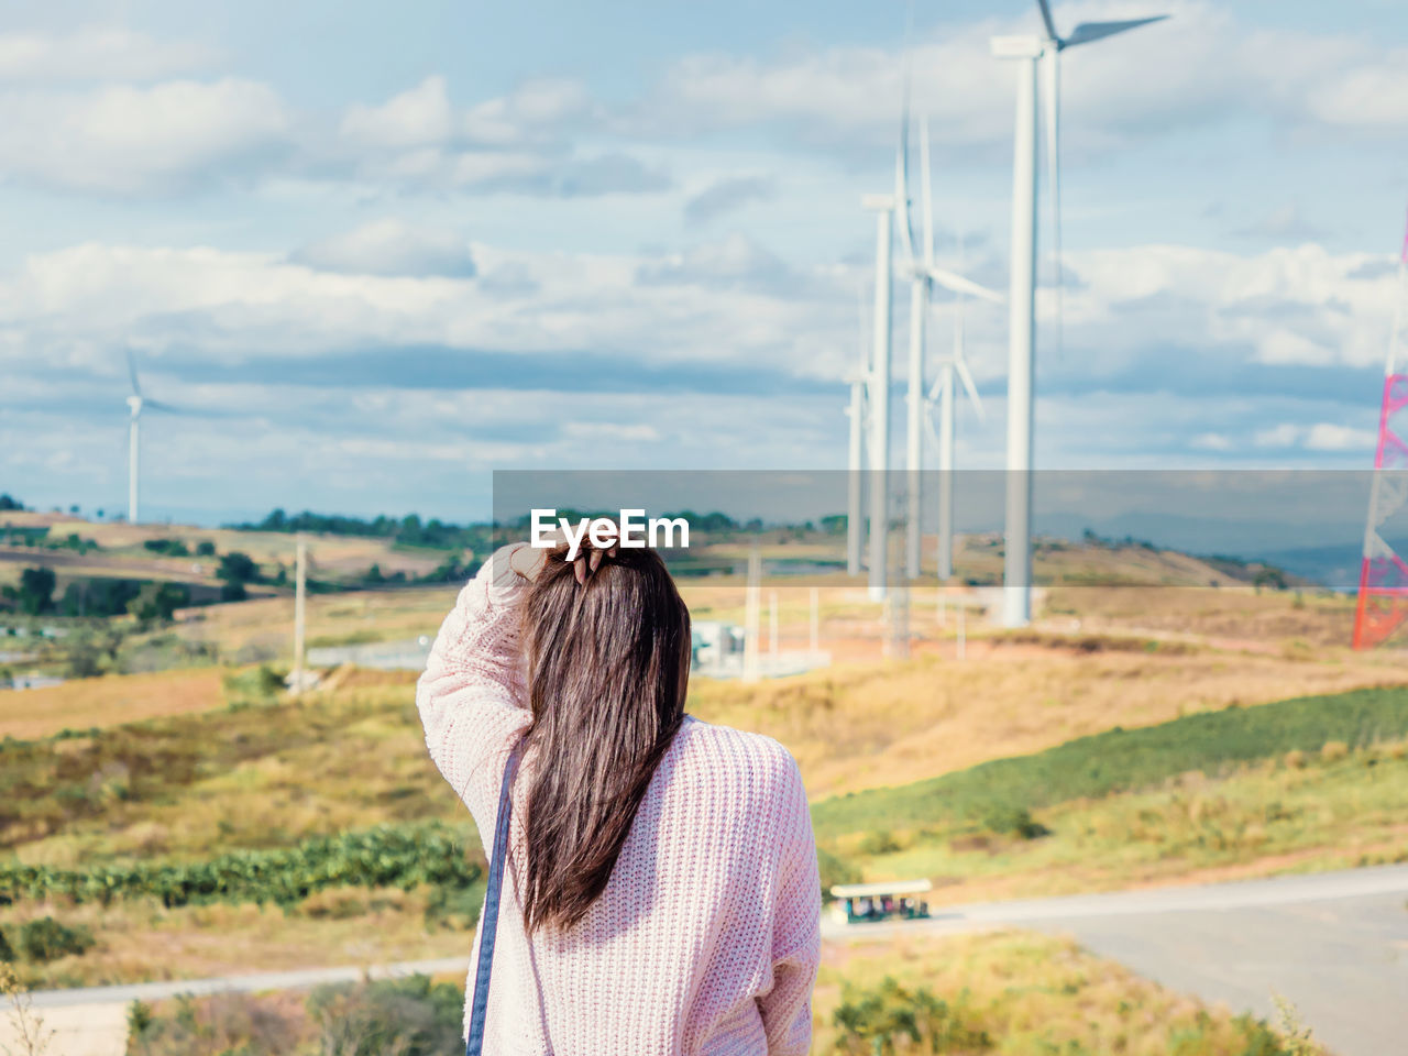
[[[558,551],[528,591],[524,645],[532,932],[580,921],[611,879],[684,718],[690,614],[655,551],[603,555],[584,584]]]

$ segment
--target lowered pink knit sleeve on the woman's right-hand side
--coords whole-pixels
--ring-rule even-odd
[[[811,1048],[811,990],[821,963],[821,877],[807,790],[790,755],[784,774],[773,984],[759,995],[758,1010],[767,1035],[767,1056],[805,1056]]]

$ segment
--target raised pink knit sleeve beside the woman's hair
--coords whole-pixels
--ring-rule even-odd
[[[508,566],[510,553],[525,545],[496,551],[459,591],[415,684],[431,759],[486,841],[504,763],[532,717],[520,635],[527,580]]]

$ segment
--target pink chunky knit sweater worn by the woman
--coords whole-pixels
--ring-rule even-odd
[[[417,686],[431,758],[473,814],[486,853],[504,763],[529,721],[524,580],[508,569],[510,549],[460,591]],[[524,759],[514,781],[484,1052],[805,1053],[821,886],[791,755],[772,738],[687,715],[605,891],[577,926],[529,939],[518,879],[534,765]],[[472,993],[473,962],[467,981]]]

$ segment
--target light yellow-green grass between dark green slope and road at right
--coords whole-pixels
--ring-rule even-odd
[[[1038,810],[1039,838],[897,828],[834,850],[866,880],[929,877],[936,905],[1408,862],[1408,742],[1340,749]]]

